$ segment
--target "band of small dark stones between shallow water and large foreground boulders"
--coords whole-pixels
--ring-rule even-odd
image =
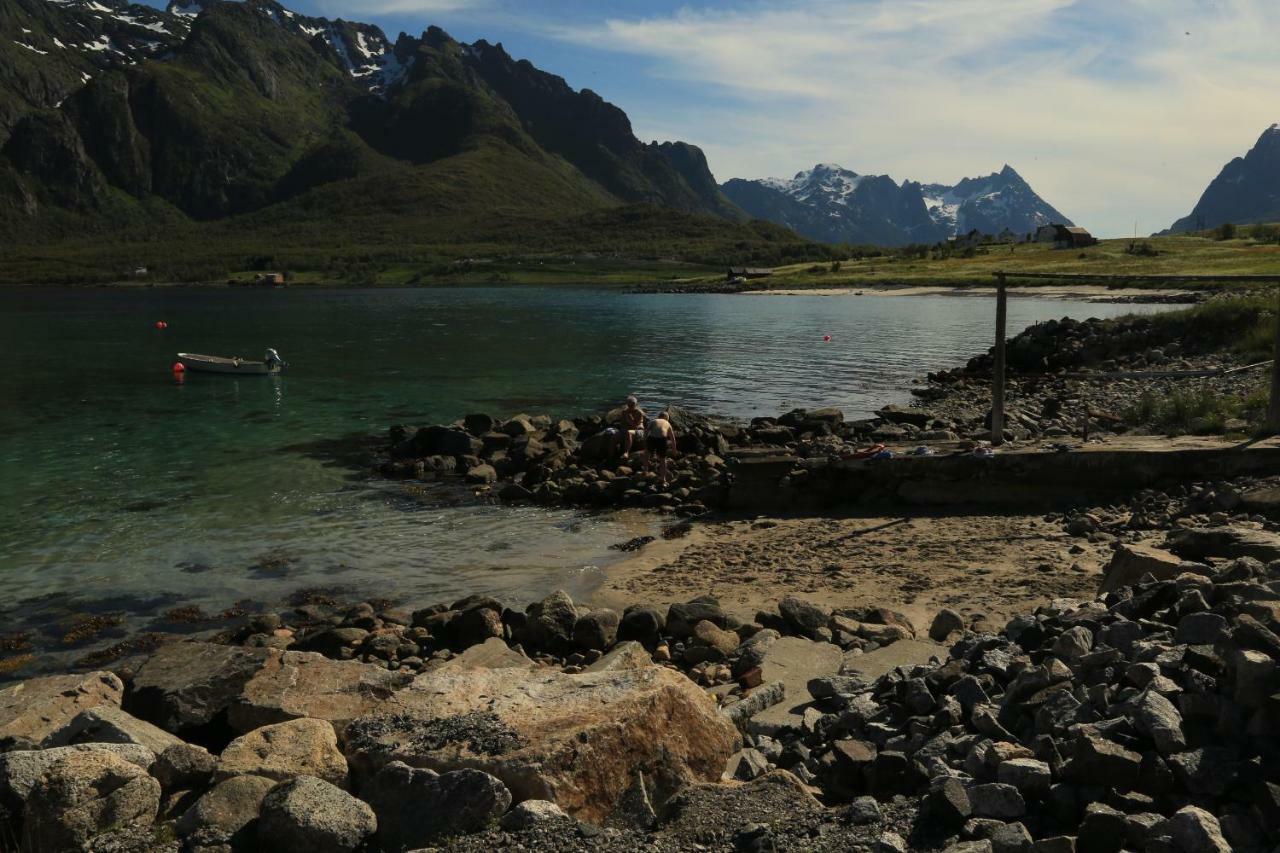
[[[489,596],[416,610],[357,605],[306,603],[275,613],[259,613],[212,639],[229,646],[315,652],[338,661],[360,661],[393,672],[416,674],[493,648],[579,672],[620,646],[681,670],[703,685],[727,684],[750,670],[748,648],[762,649],[780,637],[832,643],[845,652],[872,652],[915,628],[901,613],[883,608],[831,611],[788,597],[777,610],[762,610],[754,621],[724,611],[709,596],[668,607],[632,605],[621,612],[575,603],[557,590],[524,610],[506,607]]]

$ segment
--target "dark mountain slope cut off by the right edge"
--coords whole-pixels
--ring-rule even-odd
[[[1263,222],[1280,222],[1280,124],[1263,131],[1243,158],[1222,167],[1192,211],[1164,233]]]

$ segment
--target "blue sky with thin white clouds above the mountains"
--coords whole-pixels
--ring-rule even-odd
[[[1014,167],[1098,236],[1147,234],[1280,122],[1275,0],[294,0],[502,42],[700,146],[721,182],[838,163]]]

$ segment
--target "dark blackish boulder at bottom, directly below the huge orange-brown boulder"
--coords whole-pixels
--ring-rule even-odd
[[[479,770],[434,770],[393,761],[361,792],[378,816],[378,843],[385,850],[428,847],[493,824],[511,806],[511,792]]]

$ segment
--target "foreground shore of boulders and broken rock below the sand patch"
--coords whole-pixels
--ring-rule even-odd
[[[1098,523],[1082,523],[1079,526]],[[23,850],[1267,850],[1280,535],[1001,628],[796,597],[305,605],[0,689]]]

